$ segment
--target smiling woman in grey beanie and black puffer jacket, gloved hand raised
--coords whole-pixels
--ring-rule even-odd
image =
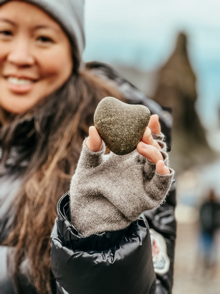
[[[170,116],[111,67],[82,62],[83,14],[83,0],[0,0],[0,294],[172,289],[175,189],[165,201],[173,171],[160,133],[169,138]],[[89,128],[105,96],[156,113],[123,158],[102,154]],[[170,258],[160,275],[148,221]]]

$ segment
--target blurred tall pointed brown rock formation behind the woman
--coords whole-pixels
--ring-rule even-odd
[[[187,53],[187,36],[180,33],[173,53],[158,72],[153,99],[173,113],[170,161],[176,172],[211,156],[205,130],[195,110],[196,76]],[[178,162],[177,162],[178,161]]]

